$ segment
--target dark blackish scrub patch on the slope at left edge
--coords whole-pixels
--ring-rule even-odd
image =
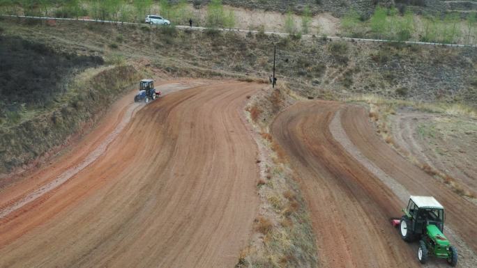
[[[75,73],[103,64],[98,56],[55,52],[22,38],[0,36],[0,42],[0,125],[51,106]]]

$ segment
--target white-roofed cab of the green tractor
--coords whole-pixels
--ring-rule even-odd
[[[430,225],[444,232],[444,207],[432,196],[411,196],[404,213],[411,219],[415,234],[425,233]]]

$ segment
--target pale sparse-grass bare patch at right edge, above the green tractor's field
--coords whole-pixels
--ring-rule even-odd
[[[392,117],[397,145],[477,193],[477,121],[402,109]]]

